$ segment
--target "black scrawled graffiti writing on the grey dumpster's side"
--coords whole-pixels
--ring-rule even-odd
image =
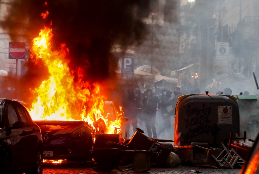
[[[218,130],[217,124],[213,124],[213,126],[209,125],[211,109],[211,107],[205,107],[205,104],[202,105],[202,108],[191,108],[190,105],[188,105],[188,109],[186,110],[188,117],[184,119],[185,127],[188,131],[186,133],[182,133],[184,141],[203,133],[211,132],[213,135],[215,134]]]

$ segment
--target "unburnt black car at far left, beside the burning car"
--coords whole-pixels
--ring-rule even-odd
[[[1,173],[42,173],[42,136],[39,126],[18,101],[0,99]]]

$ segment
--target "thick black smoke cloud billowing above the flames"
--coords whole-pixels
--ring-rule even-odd
[[[141,19],[148,17],[150,1],[16,0],[1,26],[16,40],[24,32],[29,40],[49,25],[54,47],[66,43],[70,50],[70,68],[82,67],[85,80],[100,81],[114,76],[117,58],[110,53],[114,44],[127,48],[139,44],[148,34]],[[41,13],[49,11],[46,20]]]

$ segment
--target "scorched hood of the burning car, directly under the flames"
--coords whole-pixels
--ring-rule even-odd
[[[90,129],[90,126],[84,121],[34,121],[41,129],[42,134],[50,135],[61,135],[61,134],[70,134],[75,130],[86,127]]]

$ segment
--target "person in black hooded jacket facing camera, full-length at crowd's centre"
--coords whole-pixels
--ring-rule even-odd
[[[142,110],[145,114],[145,123],[147,127],[148,137],[152,137],[157,139],[156,127],[155,127],[155,119],[156,119],[156,111],[158,111],[158,104],[160,103],[160,99],[157,96],[153,96],[152,90],[147,89],[147,96],[143,99]]]

